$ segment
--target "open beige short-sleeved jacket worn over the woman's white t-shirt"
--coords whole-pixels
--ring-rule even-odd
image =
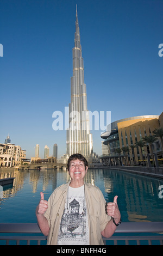
[[[48,209],[44,216],[48,220],[49,234],[47,245],[57,245],[58,230],[65,208],[67,190],[70,182],[56,188],[48,199]],[[98,187],[85,183],[86,208],[90,231],[90,245],[103,245],[101,231],[111,217],[105,213],[105,199]]]

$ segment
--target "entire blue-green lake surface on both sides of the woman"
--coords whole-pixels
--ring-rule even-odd
[[[40,192],[47,200],[54,189],[70,180],[66,170],[0,170],[0,179],[15,177],[13,185],[3,186],[0,194],[0,222],[36,222],[35,209]],[[117,170],[89,169],[86,182],[98,186],[107,202],[117,203],[123,222],[163,221],[163,179],[134,175]]]

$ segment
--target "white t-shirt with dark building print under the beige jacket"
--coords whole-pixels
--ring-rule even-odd
[[[68,187],[64,214],[58,233],[58,245],[89,245],[84,185]]]

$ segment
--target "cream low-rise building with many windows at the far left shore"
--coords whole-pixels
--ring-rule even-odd
[[[14,167],[26,162],[26,150],[15,144],[0,144],[0,167]]]

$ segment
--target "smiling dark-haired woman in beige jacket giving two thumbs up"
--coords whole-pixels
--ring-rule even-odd
[[[71,180],[56,188],[36,208],[47,245],[103,245],[102,236],[110,237],[121,223],[121,214],[114,202],[106,205],[98,187],[84,182],[88,163],[81,154],[73,154],[67,163]]]

